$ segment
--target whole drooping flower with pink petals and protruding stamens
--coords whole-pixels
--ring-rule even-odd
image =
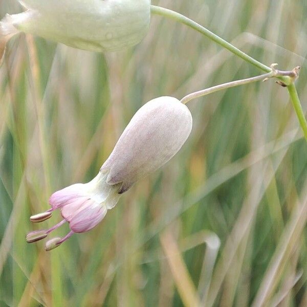
[[[29,232],[27,242],[43,239],[68,222],[71,231],[65,237],[47,242],[45,248],[51,250],[72,234],[94,228],[107,210],[115,207],[122,193],[176,155],[191,128],[191,113],[178,99],[160,97],[144,104],[92,181],[73,184],[53,193],[49,199],[51,209],[30,217],[32,222],[42,222],[59,209],[63,220],[48,230]]]

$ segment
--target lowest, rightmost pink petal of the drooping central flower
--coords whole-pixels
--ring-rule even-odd
[[[97,204],[86,205],[73,215],[70,229],[73,232],[85,232],[94,228],[105,216],[107,208]]]

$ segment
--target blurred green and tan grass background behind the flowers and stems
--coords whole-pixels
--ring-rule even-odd
[[[265,64],[301,65],[306,110],[306,0],[152,4]],[[21,10],[0,3],[0,17]],[[29,216],[53,191],[91,180],[145,102],[259,73],[160,16],[140,45],[112,54],[12,39],[0,68],[0,305],[307,306],[307,145],[273,80],[190,102],[182,150],[91,232],[49,253],[25,240],[38,229]]]

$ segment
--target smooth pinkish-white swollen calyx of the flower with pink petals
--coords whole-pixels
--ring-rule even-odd
[[[123,193],[176,155],[191,129],[186,105],[173,97],[153,99],[131,119],[100,171],[108,172],[108,184],[122,183]]]

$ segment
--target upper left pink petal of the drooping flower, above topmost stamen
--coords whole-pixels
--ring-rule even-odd
[[[83,192],[84,185],[82,183],[76,183],[64,189],[54,192],[49,199],[49,204],[52,209],[61,208],[65,205],[75,202],[76,199],[84,197]]]

